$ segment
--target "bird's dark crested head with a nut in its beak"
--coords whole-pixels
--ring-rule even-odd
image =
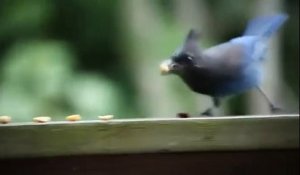
[[[189,31],[182,47],[171,56],[170,59],[160,64],[160,72],[162,75],[181,74],[184,70],[196,65],[197,59],[200,57],[198,48],[199,33],[193,29]]]

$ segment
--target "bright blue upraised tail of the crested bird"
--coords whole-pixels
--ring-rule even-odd
[[[244,36],[270,37],[288,19],[286,14],[261,16],[249,21]]]

